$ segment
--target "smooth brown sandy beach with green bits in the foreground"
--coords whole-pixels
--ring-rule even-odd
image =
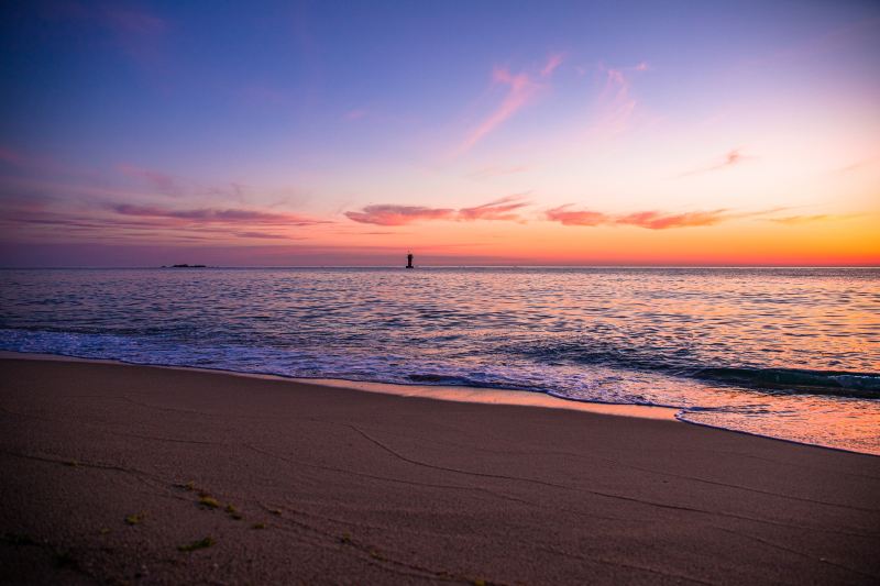
[[[2,582],[880,581],[876,456],[207,372],[0,382]]]

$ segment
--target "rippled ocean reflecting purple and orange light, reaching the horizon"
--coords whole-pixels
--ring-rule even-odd
[[[0,350],[668,406],[880,454],[878,268],[4,269]]]

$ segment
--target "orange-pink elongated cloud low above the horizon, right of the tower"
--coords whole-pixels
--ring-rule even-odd
[[[657,210],[638,211],[627,214],[609,214],[595,210],[575,210],[571,204],[560,206],[544,212],[544,217],[562,225],[634,225],[648,230],[669,230],[673,228],[697,228],[715,225],[730,220],[767,215],[779,211],[763,210],[758,212],[733,212],[726,209],[701,210],[682,213],[661,212]]]

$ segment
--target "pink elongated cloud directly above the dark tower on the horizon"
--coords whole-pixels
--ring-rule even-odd
[[[473,208],[426,208],[421,206],[367,206],[361,211],[345,212],[355,222],[376,225],[405,225],[419,221],[447,220],[468,222],[475,220],[521,221],[517,210],[529,202],[522,196],[508,196]]]

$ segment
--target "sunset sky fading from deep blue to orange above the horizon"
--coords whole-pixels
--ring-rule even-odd
[[[880,265],[873,1],[6,2],[0,266]]]

